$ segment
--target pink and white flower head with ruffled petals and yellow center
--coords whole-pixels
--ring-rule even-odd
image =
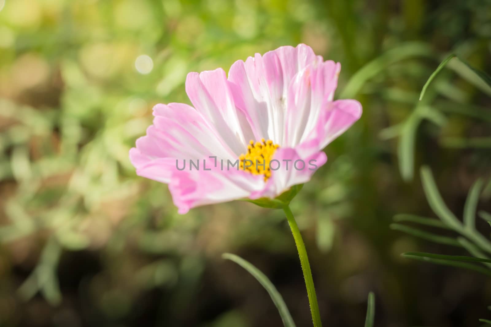
[[[324,147],[361,116],[358,101],[332,100],[340,70],[300,44],[238,60],[228,78],[221,68],[189,73],[194,108],[154,107],[153,125],[130,150],[136,174],[168,184],[181,214],[281,195],[308,181],[327,161]]]

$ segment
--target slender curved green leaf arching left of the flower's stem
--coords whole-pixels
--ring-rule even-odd
[[[292,316],[290,315],[290,311],[288,311],[288,308],[285,302],[283,301],[283,298],[276,290],[276,287],[274,287],[273,283],[268,279],[268,277],[266,277],[266,275],[261,273],[251,263],[244,260],[238,255],[232,253],[223,253],[221,256],[224,259],[232,260],[233,262],[244,268],[254,278],[256,278],[257,281],[259,281],[261,285],[263,285],[263,287],[266,289],[266,291],[268,291],[268,293],[270,294],[270,297],[273,300],[274,305],[276,305],[276,308],[279,311],[279,315],[281,316],[283,325],[285,327],[295,327],[295,323],[293,322]]]

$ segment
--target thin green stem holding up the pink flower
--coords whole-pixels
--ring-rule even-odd
[[[322,327],[321,315],[319,314],[319,304],[317,304],[317,296],[315,295],[314,280],[312,279],[312,271],[310,270],[310,264],[308,263],[307,251],[305,250],[305,244],[300,234],[299,226],[293,217],[292,210],[288,205],[283,207],[288,224],[292,229],[293,238],[297,245],[297,251],[300,256],[300,264],[302,266],[303,278],[305,279],[305,286],[307,287],[308,302],[310,304],[310,313],[312,314],[312,321],[314,327]]]

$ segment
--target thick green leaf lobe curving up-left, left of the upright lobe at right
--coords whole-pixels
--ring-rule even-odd
[[[462,223],[455,217],[452,211],[448,209],[445,202],[443,202],[443,199],[438,192],[438,188],[436,187],[433,174],[428,166],[421,167],[421,181],[428,203],[441,221],[455,230],[462,229]]]

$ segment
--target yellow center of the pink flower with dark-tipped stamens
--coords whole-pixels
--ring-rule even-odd
[[[261,142],[255,143],[250,140],[246,154],[239,156],[240,169],[252,175],[264,175],[264,181],[267,181],[271,176],[270,162],[278,148],[279,145],[274,144],[272,140],[261,139]]]

